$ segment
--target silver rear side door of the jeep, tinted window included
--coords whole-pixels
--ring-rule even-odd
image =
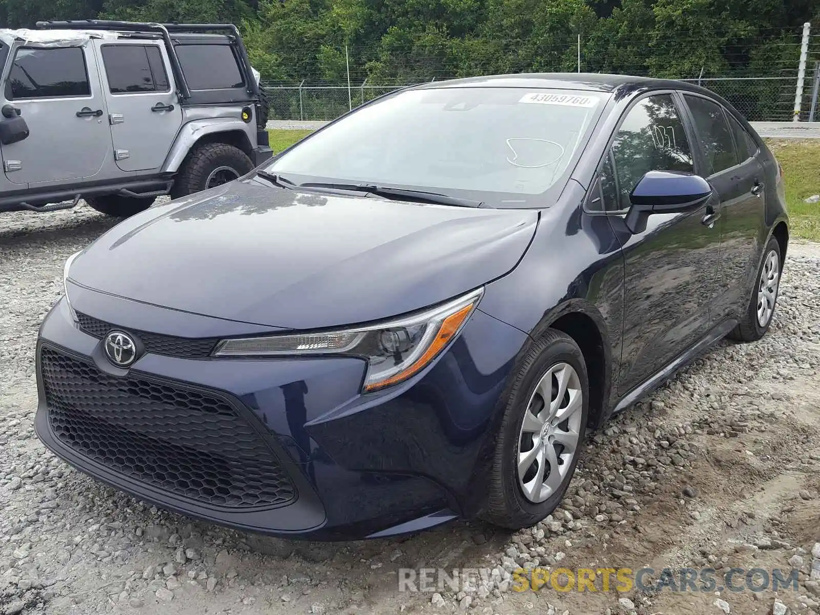
[[[98,41],[116,165],[149,171],[165,162],[182,125],[167,54],[158,41]]]

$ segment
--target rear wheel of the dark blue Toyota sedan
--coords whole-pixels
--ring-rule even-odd
[[[766,335],[772,324],[781,274],[780,244],[772,237],[763,252],[758,275],[751,289],[743,317],[728,337],[739,342],[754,342]]]

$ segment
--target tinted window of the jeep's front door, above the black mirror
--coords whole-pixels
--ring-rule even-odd
[[[82,48],[17,49],[6,84],[10,100],[90,95]]]

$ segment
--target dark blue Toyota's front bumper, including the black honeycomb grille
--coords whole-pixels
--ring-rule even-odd
[[[78,312],[134,335],[179,335],[180,312],[88,289],[71,296]],[[258,333],[196,315],[185,322],[190,337]],[[182,358],[155,346],[126,371],[107,362],[100,337],[80,329],[65,299],[43,322],[35,427],[49,449],[162,508],[319,540],[475,515],[497,400],[525,341],[477,311],[426,371],[362,395],[357,358]],[[212,400],[204,411],[203,398]]]

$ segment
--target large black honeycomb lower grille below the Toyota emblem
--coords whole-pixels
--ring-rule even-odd
[[[108,376],[40,351],[48,422],[76,452],[158,489],[215,506],[279,506],[293,483],[225,400],[138,376]]]

